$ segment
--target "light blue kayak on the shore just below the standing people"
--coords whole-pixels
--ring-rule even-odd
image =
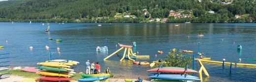
[[[83,78],[78,79],[78,82],[94,82],[94,81],[102,81],[108,79],[108,76],[98,76],[98,77],[91,77],[91,78]]]

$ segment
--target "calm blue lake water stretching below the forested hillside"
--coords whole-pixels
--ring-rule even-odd
[[[45,32],[47,23],[0,23],[0,55],[8,58],[12,67],[38,66],[37,62],[44,62],[51,53],[53,59],[71,59],[79,61],[76,72],[85,72],[87,59],[98,61],[103,71],[110,68],[111,73],[119,77],[148,78],[146,70],[149,66],[133,65],[129,60],[119,61],[124,53],[113,55],[106,61],[103,60],[120,47],[118,43],[132,45],[136,42],[133,52],[139,55],[150,55],[150,58],[137,58],[137,61],[153,61],[164,58],[172,48],[204,52],[204,56],[212,60],[227,62],[256,64],[256,24],[174,24],[174,23],[49,23],[50,31]],[[102,26],[98,26],[102,25]],[[179,25],[179,26],[175,26]],[[198,34],[204,34],[198,37]],[[187,38],[187,35],[190,38]],[[54,40],[48,40],[52,37]],[[63,42],[55,42],[62,39]],[[6,40],[8,42],[6,42]],[[198,44],[199,42],[199,44]],[[237,45],[242,45],[242,52],[238,53]],[[45,46],[50,49],[45,49]],[[33,47],[30,50],[29,47]],[[107,46],[107,53],[97,53],[97,46]],[[199,48],[198,48],[199,46]],[[60,48],[60,51],[57,50]],[[159,55],[157,51],[163,51]],[[60,52],[60,53],[58,53]],[[157,54],[157,56],[155,56]],[[195,53],[194,53],[195,54]],[[191,54],[186,54],[191,56]],[[4,59],[1,59],[4,60]],[[6,64],[6,63],[5,63]],[[204,82],[254,82],[256,68],[232,67],[203,63],[210,77]],[[0,63],[4,65],[4,63]],[[199,70],[195,63],[195,70]],[[198,76],[198,74],[195,74]],[[204,76],[204,75],[203,75]]]

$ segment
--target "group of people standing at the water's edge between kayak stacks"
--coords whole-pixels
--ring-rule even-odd
[[[98,62],[92,61],[92,63],[90,63],[90,60],[87,60],[86,64],[86,74],[99,74],[100,72],[100,65],[98,64]],[[109,67],[106,68],[106,74],[109,74]]]

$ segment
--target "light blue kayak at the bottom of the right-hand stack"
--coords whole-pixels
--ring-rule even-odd
[[[193,81],[201,81],[199,78],[194,78],[195,76],[181,75],[181,74],[160,74],[155,76],[149,76],[151,79],[162,79],[162,80],[193,80]]]

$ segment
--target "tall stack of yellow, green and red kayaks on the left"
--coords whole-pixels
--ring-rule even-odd
[[[70,66],[77,65],[79,62],[72,60],[50,60],[46,62],[39,62],[37,65],[42,65],[40,67],[35,67],[40,69],[36,74],[40,74],[44,77],[39,77],[38,79],[42,82],[61,82],[61,81],[72,81],[70,78],[73,76],[73,69]]]

